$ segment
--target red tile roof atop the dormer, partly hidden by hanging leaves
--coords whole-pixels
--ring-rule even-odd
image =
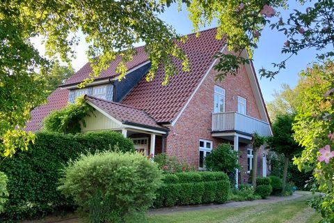
[[[132,61],[129,61],[129,63],[126,64],[127,69],[131,70],[132,68],[136,68],[137,66],[140,66],[141,64],[148,61],[148,54],[146,54],[144,50],[144,46],[142,47],[136,47],[137,54],[134,56],[134,59]],[[120,63],[120,56],[116,56],[116,59],[111,62],[108,69],[103,70],[101,72],[101,75],[97,77],[96,79],[105,79],[108,77],[116,77],[118,74],[115,72],[118,63]],[[72,77],[66,80],[64,84],[61,86],[68,86],[72,84],[79,84],[84,81],[84,79],[89,78],[90,73],[92,73],[92,67],[90,66],[90,63],[86,63],[85,66],[83,66],[80,70],[78,70]]]

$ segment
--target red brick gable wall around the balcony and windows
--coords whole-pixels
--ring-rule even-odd
[[[202,82],[182,116],[180,116],[174,126],[169,127],[170,132],[166,140],[166,153],[179,157],[180,160],[188,162],[193,167],[198,167],[200,139],[212,141],[213,148],[225,141],[211,135],[214,85],[225,89],[225,112],[237,112],[237,96],[240,95],[247,100],[247,115],[260,119],[260,112],[257,109],[255,97],[250,88],[250,82],[244,67],[240,69],[239,75],[236,77],[228,75],[223,82],[215,82],[215,75],[216,70],[210,70],[209,75]],[[233,141],[231,141],[231,144],[233,144]],[[245,153],[245,149],[245,145],[240,145],[242,153],[240,162],[247,172],[247,151]],[[244,174],[244,172],[243,170],[241,173],[242,182],[248,178],[248,175]]]

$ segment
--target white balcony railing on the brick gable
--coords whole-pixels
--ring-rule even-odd
[[[212,132],[240,131],[248,134],[257,132],[262,136],[271,135],[269,124],[257,118],[238,112],[221,112],[212,114]]]

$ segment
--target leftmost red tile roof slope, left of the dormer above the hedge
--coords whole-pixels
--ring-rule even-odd
[[[69,91],[58,88],[47,98],[47,104],[36,107],[31,111],[31,120],[26,123],[25,130],[37,132],[43,128],[43,119],[54,110],[62,109],[67,105]]]

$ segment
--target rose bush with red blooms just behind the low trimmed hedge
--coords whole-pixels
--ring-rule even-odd
[[[166,153],[160,153],[154,156],[154,162],[164,174],[173,174],[178,172],[189,172],[194,169],[186,162],[182,162],[175,156],[168,156]]]

